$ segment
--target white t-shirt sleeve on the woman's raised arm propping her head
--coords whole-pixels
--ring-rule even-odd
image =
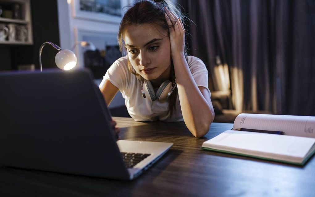
[[[194,78],[197,86],[208,88],[208,70],[203,63],[202,60],[200,60],[197,57],[190,56],[189,61],[189,69],[192,72],[192,77]],[[210,90],[209,90],[210,92]]]

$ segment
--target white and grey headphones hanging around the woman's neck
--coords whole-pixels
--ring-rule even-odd
[[[173,84],[171,81],[166,80],[164,81],[161,86],[157,89],[157,92],[155,92],[151,82],[149,80],[144,80],[144,83],[142,83],[139,76],[137,76],[138,80],[140,81],[140,84],[142,86],[141,88],[141,94],[143,98],[148,97],[151,101],[163,101],[173,93],[175,87],[176,87],[176,80]]]

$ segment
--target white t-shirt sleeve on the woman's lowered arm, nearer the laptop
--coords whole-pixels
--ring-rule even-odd
[[[120,59],[116,60],[111,67],[108,68],[103,81],[108,79],[120,91],[124,90],[129,78],[127,64]]]

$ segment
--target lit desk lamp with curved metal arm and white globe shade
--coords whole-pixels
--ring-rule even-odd
[[[40,71],[43,71],[42,67],[42,50],[43,47],[49,44],[53,46],[57,51],[59,51],[55,56],[55,62],[58,68],[62,70],[70,70],[77,65],[77,57],[76,55],[68,49],[61,49],[57,44],[52,42],[44,42],[39,48],[39,67]]]

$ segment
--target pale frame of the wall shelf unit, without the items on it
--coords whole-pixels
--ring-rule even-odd
[[[32,32],[32,21],[31,21],[31,4],[30,0],[0,0],[0,5],[8,5],[12,4],[20,5],[20,14],[21,19],[12,19],[12,18],[4,18],[0,17],[0,24],[5,24],[8,27],[9,24],[26,26],[27,30],[27,39],[26,42],[22,41],[9,41],[9,36],[5,41],[0,41],[0,45],[32,45],[33,44],[33,32]],[[13,10],[11,10],[13,12]]]

